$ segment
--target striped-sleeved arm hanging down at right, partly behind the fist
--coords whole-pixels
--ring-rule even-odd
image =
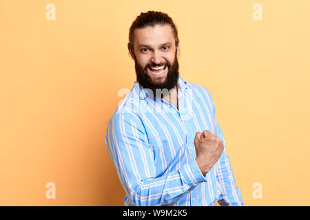
[[[222,129],[220,129],[220,125],[216,120],[216,109],[214,106],[214,100],[207,91],[209,96],[209,100],[211,100],[211,106],[214,113],[214,120],[216,122],[216,136],[220,137],[224,144],[224,150],[222,155],[220,155],[220,159],[216,163],[217,167],[217,179],[220,182],[220,185],[223,188],[223,192],[218,198],[218,203],[221,206],[243,206],[242,195],[240,188],[236,186],[236,181],[234,177],[234,173],[231,168],[229,156],[225,153],[225,140]]]

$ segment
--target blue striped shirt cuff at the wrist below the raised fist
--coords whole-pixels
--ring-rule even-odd
[[[184,177],[185,182],[191,188],[197,186],[203,181],[208,181],[209,179],[208,173],[206,175],[201,173],[195,159],[181,167],[180,174]]]

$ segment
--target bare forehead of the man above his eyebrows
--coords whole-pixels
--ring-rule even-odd
[[[134,30],[135,45],[161,45],[163,43],[174,43],[174,33],[171,25],[155,25]]]

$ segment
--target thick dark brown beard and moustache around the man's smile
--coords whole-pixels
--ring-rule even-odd
[[[154,96],[158,96],[158,92],[156,92],[156,89],[160,91],[159,94],[161,94],[161,98],[163,96],[167,95],[170,91],[170,89],[173,89],[178,84],[178,58],[174,57],[174,63],[160,63],[159,65],[155,65],[154,63],[149,63],[145,65],[145,68],[141,67],[141,65],[138,64],[138,61],[136,60],[136,57],[134,57],[134,63],[135,63],[135,69],[136,69],[136,80],[138,80],[138,83],[145,89],[151,89],[153,91]],[[161,83],[154,83],[152,78],[147,73],[147,68],[154,67],[154,66],[162,66],[166,65],[165,68],[168,67],[168,73],[165,78],[165,81]],[[167,89],[167,90],[166,90]]]

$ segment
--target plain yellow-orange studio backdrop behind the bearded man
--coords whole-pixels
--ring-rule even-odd
[[[308,0],[0,0],[0,205],[123,206],[105,131],[135,80],[128,29],[147,10],[176,22],[180,76],[213,96],[245,205],[309,206]]]

